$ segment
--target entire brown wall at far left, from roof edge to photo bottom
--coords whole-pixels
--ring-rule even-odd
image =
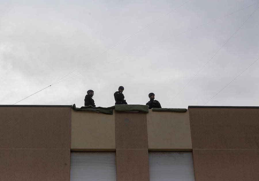
[[[0,180],[69,181],[71,106],[0,107]]]

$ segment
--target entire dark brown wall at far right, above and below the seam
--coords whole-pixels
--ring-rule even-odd
[[[195,180],[259,178],[259,109],[189,106]]]

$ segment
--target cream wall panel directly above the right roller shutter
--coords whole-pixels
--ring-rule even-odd
[[[192,149],[188,110],[155,112],[147,117],[148,149],[161,151],[190,151]]]

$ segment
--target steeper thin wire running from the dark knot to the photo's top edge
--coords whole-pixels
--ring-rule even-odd
[[[189,0],[191,1],[191,0]],[[138,30],[137,32],[135,32],[134,34],[132,34],[131,36],[125,38],[124,40],[122,40],[121,42],[117,43],[116,45],[114,45],[113,47],[109,48],[108,50],[102,52],[100,55],[98,55],[97,57],[91,59],[90,61],[88,61],[87,63],[94,61],[95,59],[97,59],[98,57],[100,57],[101,55],[103,55],[104,53],[108,52],[109,50],[113,49],[115,46],[121,44],[122,42],[126,41],[127,39],[131,38],[132,36],[138,34],[139,32],[141,32],[142,30],[144,30],[145,28],[147,28],[148,26],[151,26],[152,24],[154,24],[155,22],[157,22],[158,20],[161,20],[163,17],[167,16],[168,14],[172,13],[173,11],[175,11],[176,9],[182,7],[183,5],[185,5],[186,3],[188,3],[189,1],[186,1],[185,3],[181,4],[180,6],[176,7],[175,9],[173,9],[172,11],[170,11],[169,13],[163,15],[162,17],[158,18],[157,20],[153,21],[152,23],[148,24],[147,26],[145,26],[144,28]],[[67,75],[65,75],[64,77],[62,77],[61,79],[65,78],[66,76],[70,75],[71,73],[77,71],[78,69],[80,69],[81,67],[85,66],[87,63],[81,65],[80,67],[78,67],[77,69],[71,71],[70,73],[68,73]],[[61,79],[57,80],[56,82],[60,81]],[[54,82],[52,85],[54,85],[56,82]]]

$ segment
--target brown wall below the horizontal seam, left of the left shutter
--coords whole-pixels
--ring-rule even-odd
[[[70,149],[0,149],[0,180],[69,181]]]

